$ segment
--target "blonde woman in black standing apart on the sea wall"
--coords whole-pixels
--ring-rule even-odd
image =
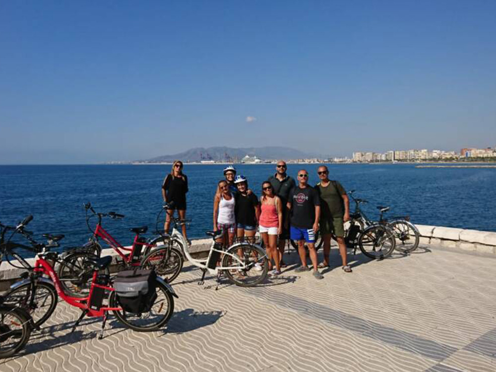
[[[187,191],[187,177],[186,174],[183,174],[183,162],[176,160],[172,164],[171,173],[165,177],[164,183],[162,184],[162,197],[164,198],[164,202],[174,202],[172,209],[168,210],[166,214],[164,229],[167,233],[169,233],[171,216],[174,214],[174,210],[178,211],[181,220],[186,219]],[[187,240],[186,225],[183,224],[181,227],[183,228],[183,235]],[[189,242],[189,240],[187,241]]]

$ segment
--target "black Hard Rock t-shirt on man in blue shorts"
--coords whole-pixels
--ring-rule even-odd
[[[312,228],[315,222],[315,206],[320,205],[317,191],[310,186],[301,189],[296,186],[289,192],[291,203],[291,225],[299,228]]]

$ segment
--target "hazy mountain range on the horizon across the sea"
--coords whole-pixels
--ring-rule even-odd
[[[214,161],[226,161],[226,162],[238,162],[245,157],[245,155],[257,156],[262,160],[265,159],[306,159],[312,157],[320,157],[319,154],[303,152],[296,149],[291,149],[287,147],[260,147],[260,148],[229,148],[229,147],[211,147],[211,148],[194,148],[189,149],[184,152],[172,154],[172,155],[162,155],[153,157],[146,160],[136,160],[136,162],[144,163],[159,163],[159,162],[171,162],[176,159],[182,161],[202,161],[202,160],[214,160]]]

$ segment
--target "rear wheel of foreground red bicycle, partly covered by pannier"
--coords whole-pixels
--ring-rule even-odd
[[[149,311],[135,314],[124,310],[115,310],[115,316],[127,327],[138,332],[158,330],[171,318],[174,312],[174,298],[167,287],[159,281],[157,281],[156,291],[157,298]],[[109,303],[110,307],[121,307],[115,291],[110,294]]]

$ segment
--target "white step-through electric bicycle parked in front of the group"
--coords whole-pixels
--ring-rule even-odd
[[[171,205],[166,204],[163,209],[167,211],[171,209]],[[216,241],[221,236],[221,231],[207,231],[206,234],[212,236],[208,257],[193,258],[186,238],[178,229],[186,221],[171,216],[171,222],[173,223],[172,234],[162,232],[162,236],[155,241],[161,246],[143,257],[141,261],[142,267],[154,267],[156,272],[169,283],[179,275],[183,268],[183,254],[191,264],[203,271],[199,285],[203,284],[207,272],[216,275],[217,282],[220,276],[225,274],[231,283],[240,287],[256,286],[267,277],[269,268],[267,255],[258,244],[244,241],[225,248],[222,243]],[[219,263],[220,266],[218,266]]]

